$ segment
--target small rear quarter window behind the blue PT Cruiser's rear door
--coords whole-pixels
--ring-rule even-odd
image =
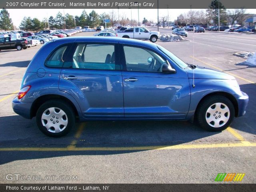
[[[68,46],[63,46],[58,48],[51,56],[46,60],[45,65],[48,67],[62,67],[64,62],[64,52],[66,51]]]

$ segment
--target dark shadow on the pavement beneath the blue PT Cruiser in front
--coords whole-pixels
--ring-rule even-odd
[[[83,151],[2,151],[0,164],[15,160],[51,158],[71,155],[110,155],[138,152],[140,147],[162,148],[192,142],[207,140],[208,137],[220,132],[207,132],[189,122],[178,121],[94,121],[77,123],[75,128],[66,136],[51,138],[40,132],[36,120],[27,120],[21,116],[0,117],[0,148],[67,148],[73,140],[76,147],[135,147],[128,150],[83,150]],[[83,127],[81,136],[76,139],[77,130]]]

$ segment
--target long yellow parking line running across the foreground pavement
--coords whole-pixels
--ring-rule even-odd
[[[0,148],[0,151],[138,151],[138,150],[174,150],[198,148],[227,148],[227,147],[255,147],[256,143],[218,143],[218,144],[179,144],[173,146],[136,146],[136,147],[74,147],[74,148],[47,148],[47,147],[14,147]]]

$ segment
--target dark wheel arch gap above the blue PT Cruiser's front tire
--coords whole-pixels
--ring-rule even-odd
[[[198,102],[198,105],[196,106],[195,114],[197,114],[197,110],[198,110],[200,104],[202,103],[202,101],[206,100],[207,98],[209,98],[211,96],[216,96],[216,95],[224,96],[232,102],[232,104],[234,105],[234,108],[235,108],[235,117],[237,117],[238,116],[238,102],[237,102],[236,98],[228,92],[221,92],[221,91],[211,92],[209,94],[206,94],[204,97],[202,97],[201,100]]]

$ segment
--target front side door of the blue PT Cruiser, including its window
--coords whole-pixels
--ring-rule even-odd
[[[186,72],[163,73],[162,65],[171,65],[172,60],[147,48],[121,47],[125,118],[185,118],[190,105]]]

